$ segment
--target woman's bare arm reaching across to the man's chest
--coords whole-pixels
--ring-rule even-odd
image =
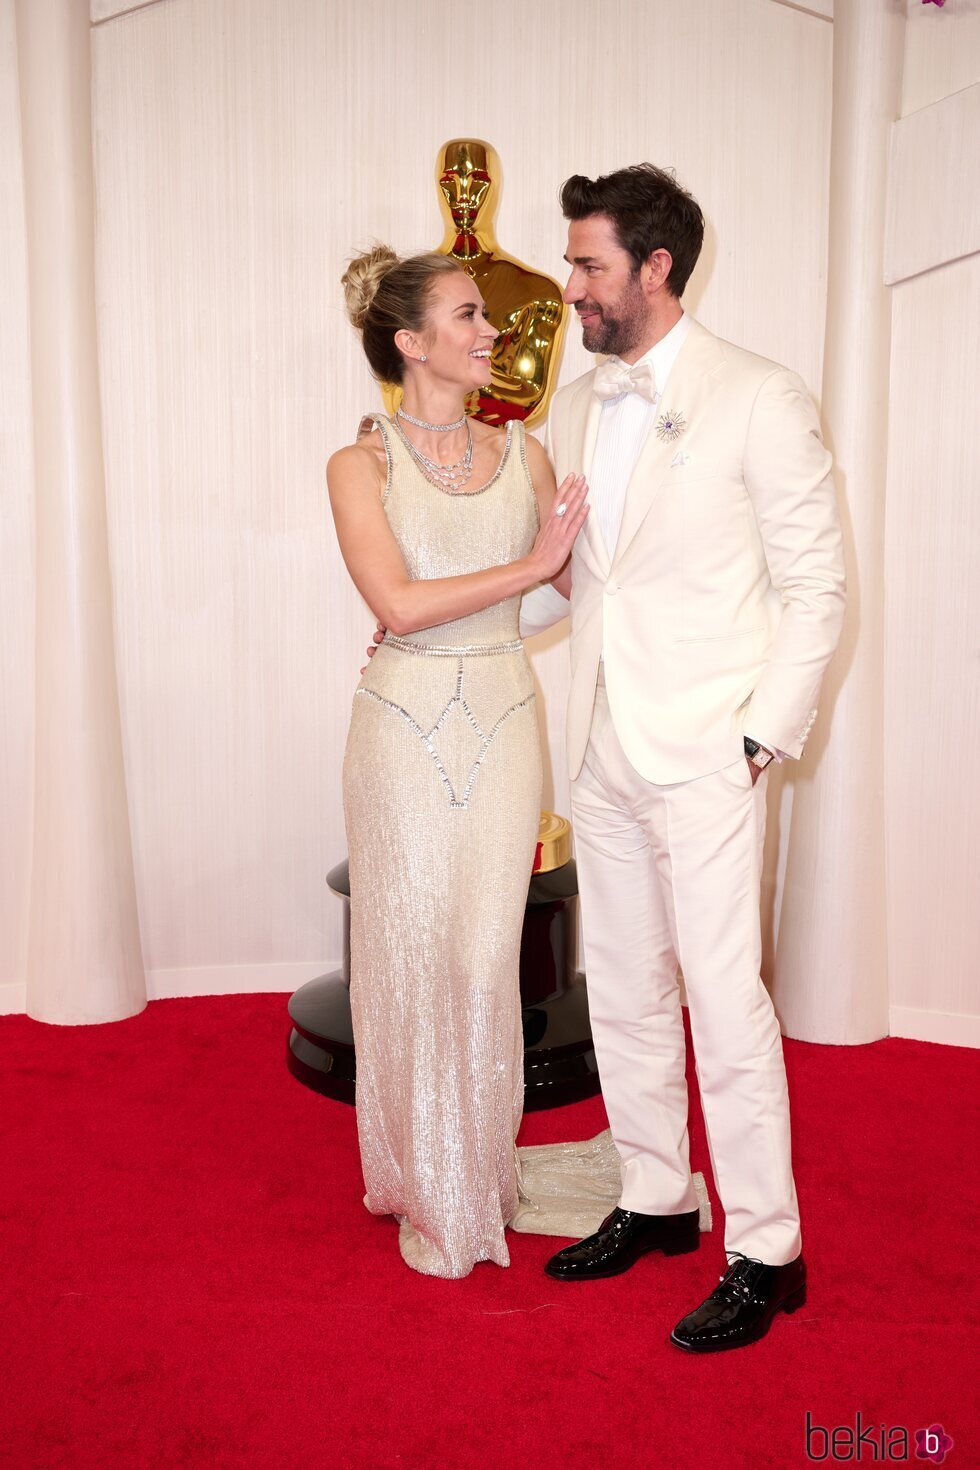
[[[548,581],[569,560],[589,512],[585,481],[569,475],[561,485],[567,512],[555,516],[550,504],[541,513],[541,531],[527,556],[483,572],[413,581],[382,507],[378,460],[372,451],[360,444],[338,450],[326,466],[326,482],[347,570],[375,617],[392,634],[466,617]],[[554,476],[551,487],[554,500]],[[538,504],[541,512],[541,497]]]

